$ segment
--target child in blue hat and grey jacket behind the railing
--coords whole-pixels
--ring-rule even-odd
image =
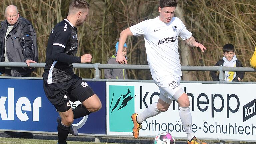
[[[118,42],[116,43],[116,53],[117,53],[117,50],[118,50]],[[107,64],[119,64],[118,62],[116,62],[116,53],[108,59]],[[126,57],[126,54],[127,54],[126,43],[124,44],[122,54],[123,56]],[[106,79],[127,79],[127,74],[125,69],[105,69],[104,75]]]

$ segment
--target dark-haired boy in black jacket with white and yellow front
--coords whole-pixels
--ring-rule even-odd
[[[223,46],[223,58],[219,60],[214,66],[227,66],[227,67],[242,67],[240,60],[236,58],[235,49],[232,44],[225,44]],[[219,75],[216,76],[216,71],[210,72],[212,80],[218,81]],[[241,81],[244,78],[244,72],[225,72],[225,81]]]

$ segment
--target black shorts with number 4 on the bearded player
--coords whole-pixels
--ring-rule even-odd
[[[72,102],[79,100],[82,103],[95,94],[92,88],[77,75],[64,82],[53,84],[43,82],[43,87],[46,97],[57,110],[61,105],[67,105],[69,100]],[[58,111],[63,111],[63,108]]]

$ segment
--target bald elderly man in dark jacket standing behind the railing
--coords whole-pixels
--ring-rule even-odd
[[[36,32],[31,22],[21,17],[14,5],[5,9],[6,20],[0,28],[0,62],[36,63],[38,60]],[[34,69],[28,67],[1,67],[5,76],[29,77]],[[32,133],[5,132],[0,137],[32,138]]]

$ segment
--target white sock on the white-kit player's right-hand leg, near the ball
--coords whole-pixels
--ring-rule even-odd
[[[190,141],[195,135],[192,131],[192,116],[190,113],[190,106],[179,107],[180,109],[180,120],[187,133],[188,140]]]

